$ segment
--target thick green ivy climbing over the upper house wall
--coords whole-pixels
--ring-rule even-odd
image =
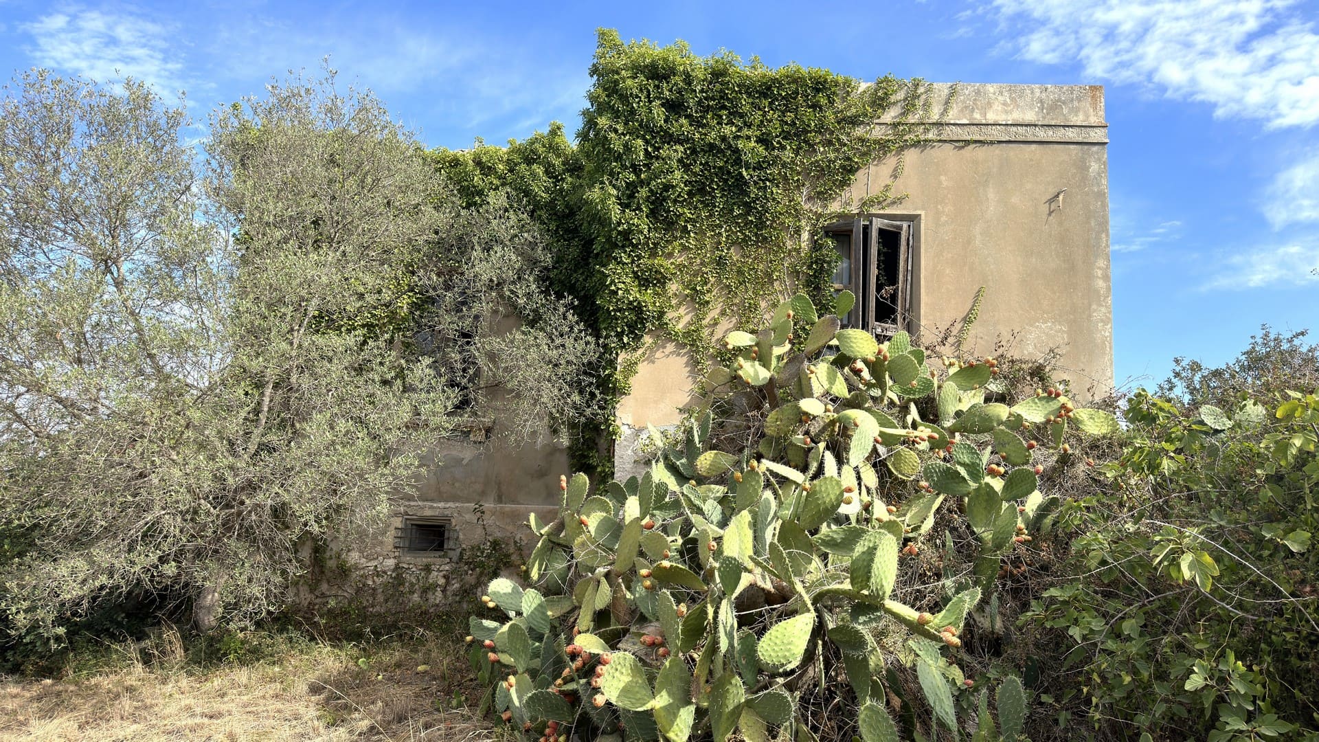
[[[716,321],[758,326],[789,292],[826,292],[838,259],[815,250],[819,227],[897,201],[892,184],[861,198],[849,186],[925,141],[936,119],[921,81],[861,84],[613,30],[599,32],[591,77],[575,147],[554,124],[506,148],[430,157],[463,198],[505,189],[532,210],[555,250],[553,288],[601,341],[613,399],[648,338],[674,339],[704,366]]]

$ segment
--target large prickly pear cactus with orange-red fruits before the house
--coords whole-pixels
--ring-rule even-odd
[[[967,617],[1057,508],[1035,452],[1116,421],[1055,389],[998,401],[993,359],[931,363],[802,296],[724,353],[649,471],[594,491],[563,477],[558,518],[533,518],[528,586],[491,582],[471,619],[485,704],[539,742],[721,742],[814,738],[801,709],[832,697],[857,709],[847,734],[888,742],[915,731],[884,708],[906,658],[914,705],[955,730]],[[997,706],[1020,734],[1013,683]]]

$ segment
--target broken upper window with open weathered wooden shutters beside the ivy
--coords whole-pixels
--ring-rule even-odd
[[[856,294],[844,327],[880,337],[906,330],[911,314],[911,222],[861,217],[824,228],[840,260],[834,289]]]

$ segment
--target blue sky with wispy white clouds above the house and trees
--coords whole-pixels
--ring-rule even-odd
[[[1319,0],[0,0],[0,71],[131,74],[195,116],[328,54],[427,145],[575,131],[598,26],[859,78],[1107,87],[1119,386],[1319,333]]]

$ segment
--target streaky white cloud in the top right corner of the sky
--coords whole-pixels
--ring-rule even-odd
[[[1017,53],[1079,61],[1269,127],[1319,123],[1319,33],[1295,0],[995,0]]]

